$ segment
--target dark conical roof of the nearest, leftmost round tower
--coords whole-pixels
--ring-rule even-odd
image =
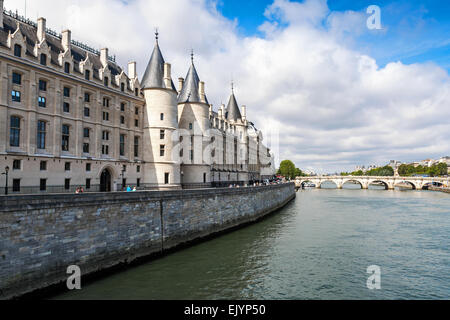
[[[149,88],[163,88],[163,89],[173,89],[176,91],[173,82],[171,83],[171,88],[166,88],[164,83],[164,58],[162,56],[161,50],[159,49],[158,43],[158,32],[156,34],[156,44],[153,49],[152,56],[148,62],[147,69],[145,70],[144,76],[141,81],[142,89]]]

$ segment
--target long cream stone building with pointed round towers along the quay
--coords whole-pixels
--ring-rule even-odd
[[[7,183],[8,193],[203,188],[275,174],[233,88],[214,111],[193,55],[175,87],[156,33],[142,78],[135,62],[127,69],[70,30],[2,10],[0,191]]]

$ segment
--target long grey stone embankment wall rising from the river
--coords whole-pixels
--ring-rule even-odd
[[[294,184],[0,197],[0,299],[160,253],[283,207]]]

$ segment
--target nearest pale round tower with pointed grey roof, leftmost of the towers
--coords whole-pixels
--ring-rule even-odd
[[[158,189],[179,189],[180,165],[173,151],[178,145],[177,91],[171,65],[156,44],[141,82],[144,110],[144,184]]]

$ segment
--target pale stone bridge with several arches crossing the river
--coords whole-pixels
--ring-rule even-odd
[[[393,190],[397,184],[409,184],[414,190],[422,190],[424,187],[437,183],[439,186],[448,187],[450,178],[423,178],[423,177],[371,177],[371,176],[315,176],[315,177],[298,177],[295,180],[297,188],[311,182],[320,189],[322,183],[333,182],[338,189],[342,189],[346,183],[359,183],[362,189],[368,189],[371,184],[382,184],[386,190]]]

